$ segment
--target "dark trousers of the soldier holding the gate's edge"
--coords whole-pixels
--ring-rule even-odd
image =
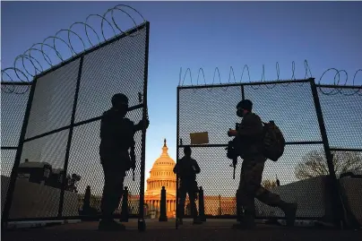
[[[114,211],[119,206],[123,194],[125,171],[102,164],[105,184],[101,201],[103,219],[112,219]]]

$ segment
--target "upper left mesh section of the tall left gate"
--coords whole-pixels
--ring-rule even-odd
[[[36,81],[25,139],[71,125],[79,65],[76,59]]]

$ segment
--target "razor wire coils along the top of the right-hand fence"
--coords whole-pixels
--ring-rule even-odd
[[[299,80],[306,80],[307,78],[313,78],[313,74],[312,71],[308,65],[307,60],[304,61],[304,70],[305,70],[305,74],[304,74],[304,78],[299,78]],[[326,73],[329,73],[331,71],[335,71],[333,80],[334,82],[332,84],[323,84],[323,81],[326,79]],[[351,95],[362,95],[362,84],[358,85],[356,83],[357,80],[357,76],[358,73],[361,72],[362,73],[362,69],[358,69],[356,71],[356,73],[354,73],[353,75],[353,80],[351,84],[348,84],[349,82],[349,74],[347,73],[346,70],[337,70],[336,68],[329,68],[326,71],[323,72],[323,74],[321,75],[321,77],[319,78],[319,82],[317,84],[317,88],[321,91],[321,93],[323,93],[324,95],[335,95],[335,94],[342,94],[345,96],[351,96]],[[288,80],[285,79],[281,79],[280,78],[280,65],[279,62],[276,62],[275,65],[275,73],[276,73],[276,78],[272,81],[266,81],[265,80],[265,65],[263,65],[262,67],[262,76],[260,78],[260,82],[257,82],[253,85],[251,85],[250,87],[254,90],[257,90],[260,88],[261,85],[265,85],[266,88],[268,89],[272,89],[274,88],[277,84],[280,84],[283,87],[287,87],[289,86],[289,84],[291,83],[290,81],[297,81],[296,78],[296,63],[293,61],[291,63],[291,77]],[[342,75],[342,73],[344,73],[344,75]],[[243,82],[243,78],[246,74],[246,82]],[[190,80],[190,84],[185,85],[185,79],[189,78]],[[342,79],[344,78],[344,82],[342,81]],[[202,80],[203,79],[203,80]],[[219,79],[219,82],[215,82],[215,80]],[[201,83],[203,81],[203,83]],[[211,83],[207,83],[206,82],[206,78],[205,78],[205,74],[203,71],[203,68],[199,68],[198,73],[197,73],[197,79],[196,79],[196,83],[194,84],[193,82],[193,76],[191,73],[191,69],[187,68],[185,73],[183,74],[182,72],[182,67],[180,68],[180,73],[179,73],[179,81],[178,81],[178,86],[182,87],[182,86],[202,86],[204,85],[205,87],[209,86],[209,85],[222,85],[222,89],[223,90],[227,90],[229,85],[232,84],[237,84],[237,83],[252,83],[251,77],[250,77],[250,70],[249,70],[249,66],[248,65],[244,65],[242,72],[241,72],[241,77],[240,80],[237,82],[236,79],[236,75],[235,75],[235,71],[234,68],[232,66],[230,66],[229,68],[229,72],[228,72],[228,82],[221,82],[221,77],[220,77],[220,69],[219,67],[215,67],[214,72],[213,72],[213,77],[212,77],[212,82]],[[268,84],[268,82],[270,82],[270,84]],[[275,82],[280,82],[280,83],[275,83]],[[343,82],[343,84],[340,84],[341,82]],[[302,86],[304,85],[306,82],[300,82],[299,85]],[[352,92],[346,92],[343,91],[346,88],[344,87],[349,87],[349,89],[353,89]],[[324,90],[324,89],[332,89],[332,90]],[[211,91],[212,88],[208,88],[207,90]],[[197,88],[194,88],[194,91],[197,91]]]

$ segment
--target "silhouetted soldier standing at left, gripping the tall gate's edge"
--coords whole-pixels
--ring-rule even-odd
[[[125,229],[125,226],[113,219],[124,190],[125,172],[135,167],[131,161],[129,149],[134,145],[134,133],[142,130],[149,121],[140,121],[134,125],[125,118],[128,111],[128,98],[121,93],[112,97],[112,108],[103,113],[100,122],[100,163],[104,171],[104,187],[101,201],[102,219],[99,229]]]

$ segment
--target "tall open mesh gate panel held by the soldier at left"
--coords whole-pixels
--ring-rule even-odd
[[[2,185],[3,178],[9,184],[3,222],[82,218],[87,186],[93,211],[89,215],[99,217],[104,184],[99,162],[100,116],[111,107],[111,97],[122,92],[129,98],[127,117],[135,123],[146,117],[149,30],[150,23],[144,22],[40,73],[20,99],[14,93],[2,94],[2,110],[5,110],[2,137],[3,145],[8,145],[2,146],[2,175],[5,173]],[[2,84],[2,90],[6,86]],[[13,98],[18,98],[19,104]],[[13,137],[13,127],[21,130],[17,134],[19,143]],[[136,133],[135,178],[133,181],[132,170],[125,177],[130,217],[140,219],[143,219],[145,137],[144,130]],[[13,161],[11,175],[9,168],[4,172],[3,155],[8,158],[9,167]],[[24,168],[31,168],[34,171],[31,175],[40,177],[30,181],[28,174],[22,175]],[[43,176],[48,178],[44,181]],[[67,177],[78,180],[77,185],[61,185],[72,184]],[[120,212],[121,207],[115,218]]]

